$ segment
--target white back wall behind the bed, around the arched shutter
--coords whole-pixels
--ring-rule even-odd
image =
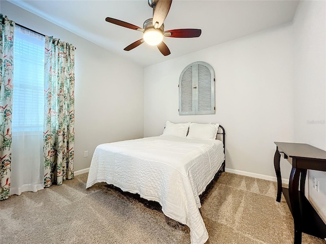
[[[166,120],[220,123],[226,168],[275,177],[274,141],[293,141],[292,37],[283,25],[145,68],[144,136],[160,135]],[[196,61],[215,71],[214,115],[178,114],[180,73]]]

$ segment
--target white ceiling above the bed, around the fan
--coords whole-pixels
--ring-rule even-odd
[[[112,17],[143,27],[144,21],[152,17],[147,0],[9,2],[143,67],[290,22],[298,5],[294,0],[174,0],[164,22],[165,29],[199,28],[202,35],[185,39],[165,37],[171,54],[163,56],[157,47],[146,43],[124,51],[141,39],[142,33],[105,21],[105,17]]]

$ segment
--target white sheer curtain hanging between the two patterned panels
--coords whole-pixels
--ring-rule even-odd
[[[10,195],[44,188],[44,43],[16,25]]]

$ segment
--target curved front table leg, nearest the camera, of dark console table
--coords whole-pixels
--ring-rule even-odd
[[[300,169],[292,168],[289,179],[289,199],[294,222],[294,244],[301,244],[302,242],[302,220],[299,196],[300,173]]]

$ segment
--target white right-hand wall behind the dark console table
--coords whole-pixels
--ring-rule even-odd
[[[294,20],[294,140],[326,150],[326,5],[303,1]],[[309,171],[308,194],[326,222],[326,172]],[[319,180],[319,193],[312,178]]]

